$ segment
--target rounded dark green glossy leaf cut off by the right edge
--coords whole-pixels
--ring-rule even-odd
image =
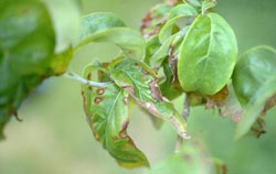
[[[233,86],[240,102],[246,106],[265,81],[276,75],[276,51],[258,46],[245,53],[236,64]]]

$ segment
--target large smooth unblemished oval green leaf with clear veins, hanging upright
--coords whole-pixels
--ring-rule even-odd
[[[229,83],[236,57],[236,37],[227,22],[215,13],[199,15],[180,46],[180,84],[184,91],[214,95]]]

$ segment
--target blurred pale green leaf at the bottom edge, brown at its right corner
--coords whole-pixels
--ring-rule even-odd
[[[225,164],[213,160],[202,143],[187,141],[179,151],[153,166],[147,174],[225,174]]]

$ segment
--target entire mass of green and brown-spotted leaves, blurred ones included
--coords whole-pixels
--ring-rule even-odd
[[[43,79],[63,74],[74,52],[96,42],[113,43],[121,52],[109,63],[88,65],[83,77],[68,76],[83,83],[84,110],[94,137],[119,165],[149,166],[127,134],[134,104],[147,110],[156,126],[160,120],[171,124],[182,139],[190,138],[187,121],[194,106],[232,117],[238,122],[236,139],[250,130],[259,137],[265,132],[264,116],[276,104],[276,51],[259,46],[238,58],[235,34],[212,11],[215,4],[215,0],[158,4],[144,18],[139,33],[113,13],[81,19],[73,0],[2,0],[0,138],[31,90]],[[183,94],[180,113],[171,101]],[[190,168],[210,174],[225,171],[201,145],[185,143],[151,172],[191,173]]]

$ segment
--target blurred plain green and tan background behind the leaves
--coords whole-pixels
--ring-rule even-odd
[[[161,0],[84,0],[84,14],[109,11],[139,29],[149,7]],[[261,44],[276,47],[275,0],[217,0],[215,9],[236,32],[240,54]],[[93,59],[109,61],[117,48],[94,44],[75,55],[71,68],[81,73]],[[141,174],[144,168],[124,170],[96,142],[82,109],[79,84],[51,78],[22,105],[19,117],[0,142],[0,174]],[[181,109],[182,98],[176,104]],[[150,120],[135,108],[129,134],[148,155],[151,164],[173,152],[176,134],[169,126],[156,131]],[[227,163],[229,174],[275,174],[276,109],[266,116],[267,133],[261,139],[244,138],[233,142],[234,123],[214,111],[195,108],[189,129],[202,138],[211,154]]]

